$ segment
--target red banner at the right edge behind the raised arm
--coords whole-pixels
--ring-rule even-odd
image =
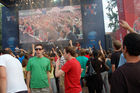
[[[119,20],[125,20],[138,33],[140,33],[140,0],[117,0]],[[127,31],[120,28],[116,32],[116,39],[122,40]]]

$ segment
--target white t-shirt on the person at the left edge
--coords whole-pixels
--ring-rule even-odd
[[[0,56],[0,66],[6,68],[7,93],[26,91],[22,65],[20,61],[9,54]]]

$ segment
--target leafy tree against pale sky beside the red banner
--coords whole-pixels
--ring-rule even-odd
[[[108,9],[107,16],[110,20],[108,27],[112,29],[112,32],[115,32],[119,26],[117,0],[108,0],[107,3],[108,3],[108,6],[106,7],[106,9]]]

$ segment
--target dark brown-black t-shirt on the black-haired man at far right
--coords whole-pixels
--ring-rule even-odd
[[[112,74],[111,93],[140,93],[140,62],[126,63]]]

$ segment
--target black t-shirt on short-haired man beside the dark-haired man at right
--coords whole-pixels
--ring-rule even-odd
[[[117,51],[111,55],[111,64],[115,64],[116,69],[118,68],[121,53],[121,51]]]

